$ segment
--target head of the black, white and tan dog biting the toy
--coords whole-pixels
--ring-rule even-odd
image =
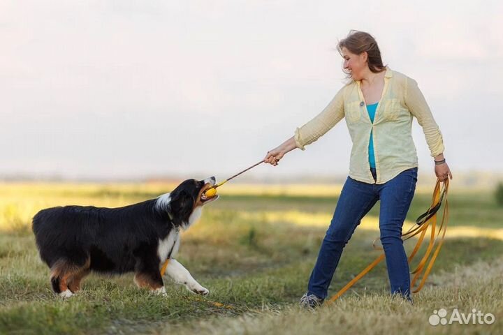
[[[219,198],[218,195],[208,198],[204,193],[215,184],[215,177],[204,180],[187,179],[170,193],[170,213],[173,221],[182,225],[191,225],[201,215],[201,207]],[[194,214],[194,215],[193,215]]]

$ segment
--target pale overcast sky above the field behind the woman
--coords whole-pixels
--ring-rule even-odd
[[[229,177],[343,86],[350,29],[418,82],[453,174],[503,170],[502,2],[407,2],[0,0],[0,177]],[[344,175],[350,152],[341,121],[249,173]]]

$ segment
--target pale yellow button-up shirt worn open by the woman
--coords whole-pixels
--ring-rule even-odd
[[[320,114],[296,129],[297,147],[304,150],[305,145],[318,140],[343,117],[353,141],[349,164],[349,177],[352,179],[374,184],[368,161],[370,131],[374,139],[377,184],[384,184],[400,172],[418,166],[411,134],[413,117],[423,128],[431,156],[438,156],[444,151],[442,133],[417,82],[390,68],[386,68],[374,124],[367,113],[360,81],[352,81],[337,92]]]

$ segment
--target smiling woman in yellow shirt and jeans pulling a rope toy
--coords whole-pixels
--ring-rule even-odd
[[[346,119],[353,142],[349,177],[300,303],[309,307],[323,304],[342,249],[377,200],[381,201],[379,230],[391,293],[411,301],[402,225],[417,181],[413,117],[423,128],[436,176],[445,180],[452,179],[452,174],[444,159],[442,133],[417,83],[383,65],[379,47],[370,34],[350,31],[337,49],[351,81],[318,116],[297,128],[293,137],[264,158],[265,163],[277,165],[286,153],[296,148],[304,150],[305,145],[316,141],[343,117]]]

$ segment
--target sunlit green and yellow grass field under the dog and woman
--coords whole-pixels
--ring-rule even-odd
[[[131,274],[91,275],[68,300],[54,296],[31,217],[64,204],[117,207],[170,191],[163,184],[0,184],[0,334],[503,334],[503,209],[490,193],[452,192],[447,239],[414,305],[388,295],[385,264],[316,311],[297,301],[340,186],[236,186],[219,192],[184,232],[177,259],[210,290],[200,299],[165,278],[168,297],[138,290]],[[430,204],[419,189],[405,227]],[[356,230],[334,294],[379,255],[379,205]],[[414,241],[411,241],[414,242]],[[407,243],[411,251],[413,243]],[[219,301],[226,306],[215,306]],[[430,325],[433,311],[492,313],[492,325]]]

